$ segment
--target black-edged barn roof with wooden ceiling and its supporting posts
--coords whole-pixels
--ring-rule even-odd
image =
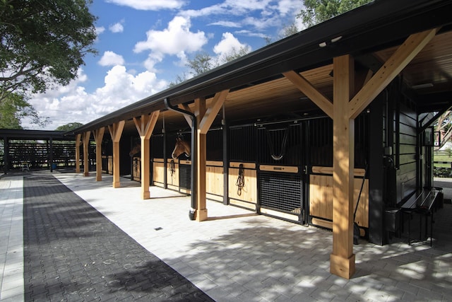
[[[108,128],[113,141],[113,186],[120,187],[121,136],[138,131],[141,194],[147,199],[150,135],[157,127],[182,127],[183,114],[182,123],[186,127],[189,122],[194,133],[194,216],[204,221],[208,217],[206,133],[214,122],[221,122],[220,110],[228,120],[321,110],[333,120],[330,270],[349,279],[355,272],[355,119],[396,79],[403,83],[403,95],[416,103],[417,114],[451,107],[451,11],[452,1],[448,0],[374,1],[85,124],[74,132],[77,144],[83,141],[88,146],[93,132],[100,148]],[[434,119],[424,120],[420,130],[432,122]],[[101,180],[100,162],[97,158],[97,180]]]

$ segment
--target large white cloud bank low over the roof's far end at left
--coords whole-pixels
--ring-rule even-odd
[[[105,85],[93,93],[87,93],[81,86],[86,76],[80,70],[78,79],[69,86],[59,87],[48,93],[37,94],[30,99],[42,117],[49,117],[55,129],[69,122],[86,124],[114,110],[137,102],[167,88],[168,83],[158,80],[150,71],[133,75],[124,66],[114,66],[105,76]],[[37,125],[23,120],[25,129],[37,129]]]

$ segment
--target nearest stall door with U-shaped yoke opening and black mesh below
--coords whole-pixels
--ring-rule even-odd
[[[257,127],[258,211],[304,223],[304,122]]]

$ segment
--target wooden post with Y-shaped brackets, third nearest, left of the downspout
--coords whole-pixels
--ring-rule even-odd
[[[141,115],[133,117],[136,129],[141,139],[141,198],[149,199],[150,185],[150,155],[149,139],[153,134],[155,123],[157,122],[160,111],[154,111],[150,115]]]

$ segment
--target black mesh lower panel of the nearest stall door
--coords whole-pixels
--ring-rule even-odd
[[[259,173],[259,192],[261,207],[301,214],[302,178],[295,173]]]

